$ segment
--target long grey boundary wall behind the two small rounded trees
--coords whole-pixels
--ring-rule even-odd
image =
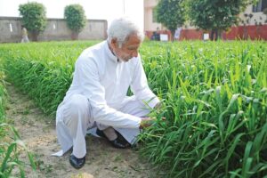
[[[0,17],[0,43],[17,43],[21,40],[21,19],[16,17]],[[105,39],[108,28],[107,20],[87,20],[85,28],[78,36],[80,40]],[[31,36],[28,34],[29,40]],[[63,19],[48,19],[44,32],[38,41],[70,40],[71,31]]]

